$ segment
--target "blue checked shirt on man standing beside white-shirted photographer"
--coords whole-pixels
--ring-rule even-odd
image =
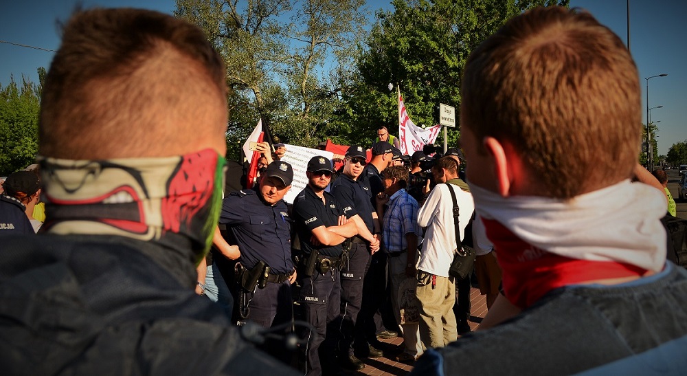
[[[408,247],[405,234],[414,232],[418,236],[418,244],[422,239],[422,229],[418,225],[418,201],[416,201],[405,189],[396,191],[386,204],[384,213],[384,228],[382,240],[384,252],[401,252]]]

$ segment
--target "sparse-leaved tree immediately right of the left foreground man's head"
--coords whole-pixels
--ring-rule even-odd
[[[270,72],[286,54],[277,21],[291,10],[288,0],[177,0],[174,16],[195,23],[223,56],[227,69],[229,127],[227,156],[238,159],[240,146],[264,118],[269,123],[285,106],[284,93]]]

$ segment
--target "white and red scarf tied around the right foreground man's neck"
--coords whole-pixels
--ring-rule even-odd
[[[517,307],[565,285],[660,272],[666,262],[666,199],[646,184],[626,180],[569,200],[470,188]]]

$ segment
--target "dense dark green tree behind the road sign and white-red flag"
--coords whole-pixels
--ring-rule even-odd
[[[398,85],[415,124],[438,123],[438,104],[460,107],[460,81],[471,51],[508,19],[553,0],[394,0],[379,12],[368,46],[357,58],[357,79],[345,93],[346,113],[365,133],[384,124],[396,133]],[[458,115],[458,114],[457,114]],[[458,130],[449,131],[454,144]]]

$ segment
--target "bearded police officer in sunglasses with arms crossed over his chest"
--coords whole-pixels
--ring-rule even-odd
[[[331,366],[328,360],[334,354],[338,335],[334,324],[341,301],[341,243],[357,233],[337,200],[325,192],[333,173],[329,159],[313,157],[306,171],[308,185],[293,201],[293,221],[304,253],[298,265],[302,278],[299,301],[306,320],[317,332],[310,336],[306,348],[308,375],[322,374],[322,364]],[[321,357],[325,362],[320,362]]]

